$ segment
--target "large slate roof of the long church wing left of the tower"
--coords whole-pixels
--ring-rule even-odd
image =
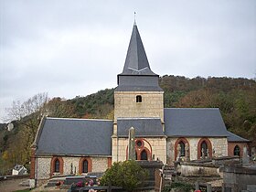
[[[46,118],[36,154],[112,155],[112,121]]]

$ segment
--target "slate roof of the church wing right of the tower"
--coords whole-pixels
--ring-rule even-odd
[[[165,134],[174,136],[228,136],[217,108],[165,109]]]

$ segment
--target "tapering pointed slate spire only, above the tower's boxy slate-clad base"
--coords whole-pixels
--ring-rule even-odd
[[[143,41],[135,21],[122,74],[155,75],[150,69]]]

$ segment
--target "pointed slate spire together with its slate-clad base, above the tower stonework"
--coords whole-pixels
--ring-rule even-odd
[[[159,76],[149,66],[138,27],[133,25],[123,72],[117,76],[115,91],[163,91],[158,85]]]

